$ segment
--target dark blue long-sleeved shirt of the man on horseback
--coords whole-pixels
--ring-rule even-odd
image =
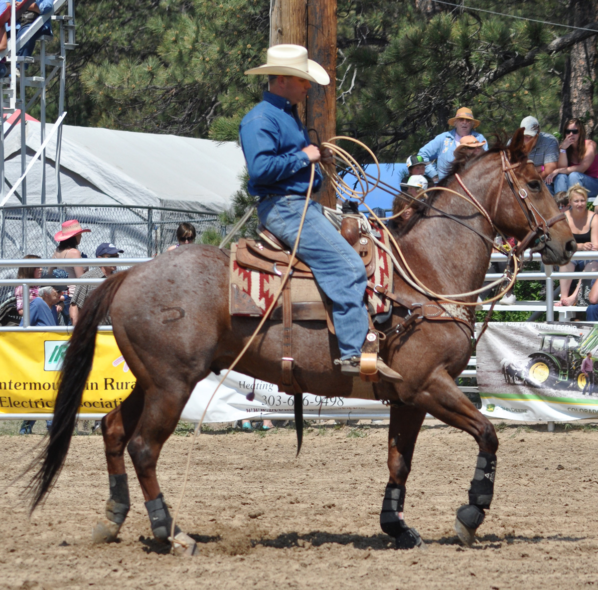
[[[307,193],[310,162],[301,150],[311,142],[297,107],[282,96],[264,92],[263,101],[243,117],[239,137],[249,171],[249,194]],[[321,184],[322,172],[316,164],[313,191]]]

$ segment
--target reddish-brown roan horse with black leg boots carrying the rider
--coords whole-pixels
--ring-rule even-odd
[[[451,175],[444,186],[460,194],[465,194],[463,186],[468,187],[487,215],[448,190],[435,191],[428,201],[436,209],[417,212],[396,232],[408,264],[417,269],[426,287],[447,294],[481,287],[496,233],[489,217],[499,230],[519,241],[535,239],[532,249],[541,251],[545,264],[569,260],[575,251],[572,233],[527,160],[522,129],[508,147],[492,148],[466,162],[459,177]],[[177,248],[117,273],[87,300],[63,363],[53,428],[38,463],[32,465],[39,468],[30,483],[33,509],[50,490],[65,460],[93,360],[96,328],[109,311],[115,339],[137,382],[130,396],[102,420],[110,495],[106,518],[98,522],[93,538],[96,542],[117,539],[129,510],[125,448],[144,493],[152,532],[157,539],[169,538],[172,518],[155,475],[160,449],[175,430],[194,385],[210,371],[218,373],[230,366],[257,326],[258,320],[229,314],[229,256],[205,245]],[[394,287],[395,295],[408,302],[429,300],[398,273]],[[473,302],[475,296],[466,300]],[[390,402],[390,476],[380,524],[395,537],[398,548],[421,543],[402,513],[417,434],[428,412],[471,434],[479,446],[469,503],[457,510],[456,518],[457,533],[469,545],[492,501],[498,449],[492,424],[454,383],[471,355],[471,332],[455,321],[422,318],[402,333],[392,332],[404,317],[405,310],[395,306],[381,327],[390,336],[380,351],[404,381],[374,384],[377,397]],[[303,391],[347,396],[352,378],[341,375],[333,363],[339,353],[326,323],[298,323],[294,336],[295,376]],[[282,324],[266,324],[237,370],[276,381],[281,342]]]

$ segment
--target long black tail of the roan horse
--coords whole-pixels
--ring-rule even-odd
[[[62,364],[50,436],[27,469],[37,469],[28,485],[32,496],[31,512],[50,491],[65,462],[93,362],[97,327],[108,313],[112,299],[127,275],[125,270],[106,279],[91,293],[79,314]]]

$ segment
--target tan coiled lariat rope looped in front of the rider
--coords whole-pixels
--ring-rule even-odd
[[[359,165],[359,163],[355,160],[355,158],[353,156],[351,156],[351,154],[349,154],[346,150],[344,150],[340,146],[332,143],[332,142],[338,141],[338,140],[351,141],[351,142],[357,144],[360,148],[367,151],[367,153],[370,154],[371,158],[374,160],[374,163],[376,164],[377,176],[373,177],[372,175],[367,174],[367,172],[364,171],[362,166]],[[334,154],[334,158],[335,158],[336,162],[339,165],[343,166],[343,168],[345,170],[352,172],[352,174],[358,179],[360,190],[356,190],[355,188],[350,187],[342,178],[340,178],[336,172],[336,166],[334,168],[332,168],[332,166],[328,166],[328,165],[322,166],[322,168],[324,168],[325,174],[327,174],[329,180],[331,181],[332,185],[334,186],[337,196],[340,197],[340,199],[342,199],[342,200],[349,200],[350,198],[352,198],[352,199],[357,200],[360,204],[364,205],[365,208],[370,213],[371,217],[373,217],[377,221],[379,226],[382,228],[382,230],[386,232],[386,234],[388,235],[388,237],[390,239],[390,242],[392,242],[392,245],[395,247],[395,250],[396,250],[399,258],[401,259],[401,262],[404,265],[404,267],[401,266],[401,264],[399,264],[398,260],[393,255],[392,250],[390,250],[390,248],[385,247],[385,245],[382,244],[382,242],[380,242],[376,238],[373,238],[374,242],[376,242],[376,244],[380,248],[382,248],[382,250],[384,250],[386,253],[389,254],[390,259],[392,260],[392,262],[393,262],[394,266],[396,267],[396,269],[398,270],[399,274],[402,276],[402,278],[405,280],[405,282],[407,282],[407,284],[411,285],[411,287],[413,287],[414,289],[416,289],[417,291],[419,291],[420,293],[424,294],[427,297],[434,297],[434,299],[438,299],[438,300],[441,300],[441,301],[444,301],[447,303],[456,303],[457,305],[466,305],[466,306],[480,305],[480,303],[479,302],[457,301],[456,298],[475,296],[480,293],[484,293],[484,291],[489,291],[498,285],[504,284],[505,281],[508,281],[507,287],[504,287],[501,291],[499,291],[499,293],[496,296],[490,297],[489,299],[487,299],[483,302],[483,303],[492,303],[498,299],[501,299],[501,297],[503,297],[505,293],[507,293],[509,290],[511,290],[512,285],[514,285],[515,281],[517,280],[517,273],[519,271],[519,260],[516,256],[513,256],[512,251],[507,251],[504,247],[501,247],[501,246],[495,244],[490,238],[488,238],[487,236],[484,236],[483,234],[481,234],[481,232],[478,232],[477,230],[475,230],[474,228],[469,226],[467,223],[453,217],[450,214],[447,214],[444,211],[441,211],[440,209],[436,208],[435,206],[431,205],[430,203],[426,202],[425,200],[416,199],[416,197],[413,197],[410,194],[404,193],[400,190],[396,190],[396,188],[390,187],[390,185],[380,181],[380,164],[379,164],[376,156],[374,155],[373,151],[371,151],[370,148],[367,147],[367,145],[365,145],[363,142],[359,141],[358,139],[347,137],[347,136],[335,136],[335,137],[329,139],[329,141],[323,142],[321,145],[321,148],[329,148],[330,150],[332,150],[332,153]],[[423,194],[427,194],[428,192],[431,192],[434,190],[442,190],[442,191],[447,191],[451,194],[454,194],[454,195],[458,196],[460,199],[466,200],[468,203],[473,205],[474,208],[477,209],[477,211],[480,212],[481,215],[483,215],[484,219],[486,219],[486,221],[488,221],[488,223],[490,224],[490,227],[492,227],[492,229],[496,233],[498,233],[498,235],[500,235],[504,240],[506,240],[506,237],[504,236],[504,234],[492,222],[492,218],[490,218],[490,215],[488,214],[486,209],[484,209],[484,207],[481,205],[481,203],[478,202],[477,199],[475,199],[475,197],[471,194],[471,192],[468,190],[468,188],[465,187],[465,184],[463,184],[463,181],[460,179],[459,175],[456,175],[456,177],[457,177],[457,180],[459,181],[459,184],[463,187],[463,190],[466,192],[465,195],[458,193],[457,191],[454,191],[451,188],[430,187],[430,188],[426,189],[425,191],[422,191],[420,196],[422,196]],[[373,185],[371,185],[368,178],[370,178],[374,181]],[[495,248],[502,254],[505,254],[505,256],[512,258],[513,263],[514,263],[514,270],[512,272],[512,275],[509,276],[505,272],[505,274],[501,278],[496,279],[496,281],[493,281],[490,284],[484,285],[483,287],[480,287],[478,289],[475,289],[472,291],[467,291],[466,293],[450,293],[450,294],[436,293],[431,288],[429,288],[425,284],[423,284],[423,282],[420,281],[420,279],[417,277],[416,273],[413,272],[413,270],[407,263],[407,260],[405,260],[402,250],[399,247],[398,243],[396,242],[395,237],[392,235],[392,233],[390,232],[388,227],[386,227],[386,225],[384,223],[382,223],[383,221],[391,220],[391,219],[394,219],[394,218],[398,217],[399,215],[401,215],[401,213],[403,211],[405,211],[405,209],[407,209],[407,206],[404,209],[402,209],[401,211],[397,212],[396,214],[391,215],[390,217],[380,218],[380,217],[378,217],[378,215],[376,215],[376,213],[374,213],[374,211],[372,211],[372,209],[367,205],[367,203],[364,202],[365,196],[370,191],[374,190],[374,188],[376,188],[376,187],[382,188],[389,194],[393,194],[393,195],[400,194],[401,197],[403,197],[404,199],[409,199],[412,202],[416,202],[418,205],[425,206],[432,211],[437,211],[441,215],[450,217],[451,219],[457,221],[458,223],[461,223],[465,227],[468,227],[468,229],[471,229],[475,233],[478,233],[478,235],[480,235],[481,238],[490,242],[490,244],[492,244],[493,248]]]

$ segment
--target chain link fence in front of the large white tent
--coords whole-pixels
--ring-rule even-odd
[[[37,254],[51,258],[56,250],[54,235],[63,221],[77,219],[84,229],[79,250],[93,258],[102,242],[116,245],[127,258],[152,257],[176,244],[176,228],[187,221],[197,230],[196,241],[207,229],[225,235],[226,227],[216,215],[160,207],[105,205],[30,205],[0,208],[0,257],[23,258]],[[14,278],[17,269],[0,269],[0,278]],[[7,296],[0,290],[0,300]]]

